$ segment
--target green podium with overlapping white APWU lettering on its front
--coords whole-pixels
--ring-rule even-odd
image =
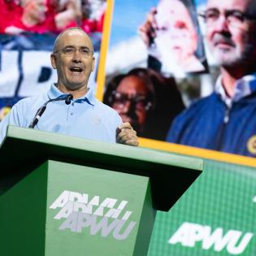
[[[155,210],[169,210],[203,164],[12,126],[0,156],[2,256],[146,255]]]

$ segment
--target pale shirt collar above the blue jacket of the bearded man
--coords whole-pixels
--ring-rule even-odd
[[[223,89],[222,77],[219,76],[215,84],[215,92],[219,94],[220,98],[230,106],[232,102],[238,102],[241,98],[248,96],[256,91],[256,73],[243,76],[241,79],[236,80],[234,97],[228,98]]]

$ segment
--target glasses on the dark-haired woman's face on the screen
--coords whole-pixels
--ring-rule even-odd
[[[129,96],[126,93],[113,91],[112,97],[113,107],[119,110],[121,110],[128,102],[130,102],[132,106],[135,106],[138,111],[149,111],[152,106],[150,98],[145,95]]]

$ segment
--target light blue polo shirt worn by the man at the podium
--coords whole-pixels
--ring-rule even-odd
[[[37,110],[49,99],[63,95],[51,85],[47,93],[24,98],[17,102],[0,123],[0,142],[6,135],[7,125],[28,128]],[[84,97],[65,101],[49,102],[35,129],[46,132],[58,132],[85,139],[115,142],[115,130],[122,123],[116,111],[98,101],[89,89]]]

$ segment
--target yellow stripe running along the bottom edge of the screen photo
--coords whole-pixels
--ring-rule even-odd
[[[218,152],[215,150],[203,150],[187,145],[177,145],[173,143],[167,143],[163,141],[155,141],[145,138],[140,138],[140,146],[145,146],[147,148],[155,150],[165,150],[176,154],[187,154],[189,156],[195,156],[199,158],[207,158],[210,160],[217,160],[224,163],[235,163],[240,165],[245,165],[249,167],[256,167],[256,159],[249,158],[246,156],[241,156],[238,154],[228,154],[223,152]]]

